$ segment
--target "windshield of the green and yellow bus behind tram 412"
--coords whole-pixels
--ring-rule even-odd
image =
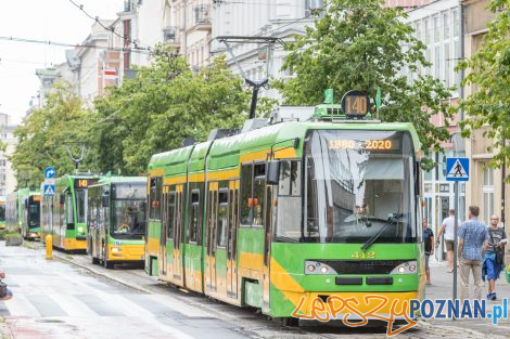
[[[113,187],[114,238],[141,239],[145,234],[145,184],[117,184]]]

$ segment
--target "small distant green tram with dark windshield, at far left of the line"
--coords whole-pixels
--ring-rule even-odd
[[[8,195],[5,224],[11,232],[20,232],[25,239],[40,238],[39,192],[22,188]]]

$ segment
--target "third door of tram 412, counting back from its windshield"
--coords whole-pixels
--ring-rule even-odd
[[[207,256],[205,265],[205,286],[211,291],[216,291],[216,223],[218,214],[218,183],[209,183],[209,197],[207,201],[206,245]]]

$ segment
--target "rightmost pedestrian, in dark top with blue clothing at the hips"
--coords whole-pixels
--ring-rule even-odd
[[[482,277],[488,281],[487,300],[496,300],[496,281],[505,269],[505,245],[507,234],[499,227],[499,217],[492,216],[488,231],[488,246],[482,265]]]

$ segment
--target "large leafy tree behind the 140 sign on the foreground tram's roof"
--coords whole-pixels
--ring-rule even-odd
[[[326,3],[315,27],[308,26],[304,36],[286,44],[290,53],[283,68],[295,77],[276,83],[284,102],[316,105],[322,102],[327,88],[336,94],[362,90],[373,99],[380,87],[381,120],[412,122],[425,151],[441,149],[441,141],[449,138],[450,90],[430,76],[418,76],[429,63],[423,43],[399,19],[406,14],[384,6],[382,0]],[[412,83],[408,73],[415,75]],[[444,117],[442,127],[431,122],[438,113]]]

